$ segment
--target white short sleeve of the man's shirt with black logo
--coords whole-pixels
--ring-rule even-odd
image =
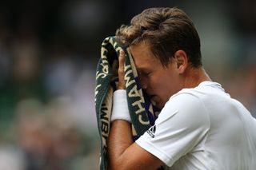
[[[191,93],[170,98],[155,125],[136,143],[169,167],[192,151],[210,128],[210,120],[200,99]]]

